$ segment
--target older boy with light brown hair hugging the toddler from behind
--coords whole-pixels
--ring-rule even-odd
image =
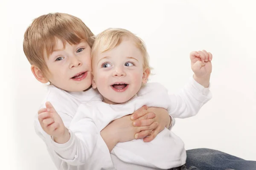
[[[58,169],[78,170],[86,167],[86,165],[73,166],[72,162],[64,160],[56,150],[59,150],[59,147],[67,149],[65,148],[67,143],[58,143],[61,143],[61,138],[70,137],[67,128],[78,106],[98,95],[96,91],[90,89],[92,81],[90,50],[93,44],[93,39],[90,37],[92,36],[93,33],[79,18],[61,13],[36,18],[24,34],[23,50],[31,63],[32,73],[38,81],[51,84],[38,112],[47,111],[44,107],[45,102],[49,101],[55,106],[58,116],[53,116],[52,119],[51,115],[37,115],[35,130],[46,143],[47,150]],[[183,103],[185,110],[190,107],[190,102]],[[106,144],[108,147],[113,147],[116,142],[134,139],[135,133],[139,135],[138,138],[151,136],[153,129],[155,129],[153,134],[156,136],[161,128],[172,125],[170,116],[163,109],[155,108],[156,116],[145,110],[146,107],[143,107],[134,114],[139,115],[137,118],[148,117],[145,121],[142,119],[134,121],[141,127],[134,127],[130,116],[124,116],[101,131],[98,136],[98,139],[101,139],[99,145]],[[199,108],[194,110],[197,112]],[[158,122],[158,126],[157,123],[152,123],[154,120]],[[52,133],[46,133],[47,130],[51,130]],[[56,133],[61,135],[56,136]],[[99,155],[100,153],[96,154],[96,158]]]

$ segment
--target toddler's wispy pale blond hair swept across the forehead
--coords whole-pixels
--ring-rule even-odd
[[[119,45],[124,37],[132,38],[141,53],[143,54],[143,68],[144,69],[152,69],[149,66],[149,57],[148,52],[143,40],[140,37],[137,37],[131,31],[122,28],[108,28],[105,31],[99,33],[96,37],[94,37],[94,43],[92,47],[91,57],[97,53],[103,53],[105,51],[111,50]]]

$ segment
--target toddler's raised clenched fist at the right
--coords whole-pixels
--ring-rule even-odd
[[[195,81],[207,88],[212,73],[212,54],[205,50],[192,51],[190,60]]]

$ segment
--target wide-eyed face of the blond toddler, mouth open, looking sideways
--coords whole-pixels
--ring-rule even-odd
[[[137,94],[143,73],[143,55],[129,38],[93,57],[93,88],[109,104],[126,102]]]

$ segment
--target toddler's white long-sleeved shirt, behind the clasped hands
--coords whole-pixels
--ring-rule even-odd
[[[185,164],[186,151],[182,140],[164,129],[148,143],[132,140],[116,144],[111,154],[100,136],[100,131],[114,119],[133,113],[143,105],[166,108],[170,115],[179,118],[194,116],[211,98],[208,88],[194,79],[177,95],[157,83],[148,83],[138,96],[119,105],[108,105],[95,96],[82,104],[70,123],[70,140],[66,144],[51,141],[54,153],[70,167],[98,169],[168,169]],[[157,155],[157,156],[156,156]],[[73,170],[73,169],[72,169]]]

